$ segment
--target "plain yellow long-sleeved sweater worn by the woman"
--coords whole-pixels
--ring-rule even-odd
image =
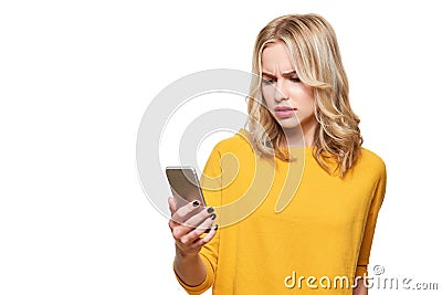
[[[209,157],[204,175],[213,179],[202,186],[222,189],[203,194],[221,226],[200,252],[204,282],[178,282],[189,294],[210,286],[220,295],[351,294],[355,276],[367,272],[386,190],[383,161],[362,148],[340,178],[309,147],[291,148],[293,162],[256,157],[248,136],[241,129]]]

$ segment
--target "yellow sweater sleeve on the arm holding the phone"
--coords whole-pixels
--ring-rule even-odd
[[[201,176],[201,188],[204,197],[206,206],[217,207],[221,206],[222,197],[222,181],[221,181],[221,154],[218,148],[213,148],[206,164],[203,173]],[[215,210],[217,213],[217,210]],[[217,220],[214,222],[217,224]],[[190,295],[202,294],[209,289],[214,282],[214,275],[218,265],[218,247],[220,243],[221,230],[218,230],[213,239],[201,247],[199,253],[201,260],[204,262],[207,268],[206,280],[198,286],[189,286],[182,282],[178,275],[176,275],[178,283],[186,289]]]

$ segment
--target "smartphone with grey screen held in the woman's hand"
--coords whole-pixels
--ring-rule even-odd
[[[198,200],[200,204],[206,207],[200,181],[193,167],[168,166],[166,167],[166,176],[169,181],[170,190],[172,191],[177,209],[194,200]]]

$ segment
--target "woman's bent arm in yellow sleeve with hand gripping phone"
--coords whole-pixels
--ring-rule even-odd
[[[220,175],[221,157],[214,148],[209,157],[200,181],[206,203],[214,208],[221,206],[221,190],[204,189],[204,187],[221,188]],[[189,294],[201,294],[203,291],[208,289],[214,281],[220,234],[215,234],[218,225],[213,226],[215,214],[213,214],[212,209],[209,211],[208,209],[202,210],[200,213],[189,219],[190,222],[194,222],[193,224],[197,226],[194,229],[177,224],[173,220],[183,219],[188,217],[189,212],[192,210],[201,209],[199,204],[193,207],[193,204],[189,203],[186,207],[188,211],[181,211],[182,208],[176,211],[173,199],[169,200],[169,208],[172,213],[169,226],[172,230],[176,241],[173,271],[178,282]],[[186,221],[186,223],[189,223],[189,221]],[[210,231],[203,235],[207,229],[210,229]]]

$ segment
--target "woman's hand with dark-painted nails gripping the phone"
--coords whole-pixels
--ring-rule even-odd
[[[213,208],[202,207],[199,201],[189,202],[177,210],[173,198],[168,199],[171,219],[169,228],[172,232],[177,254],[182,256],[197,255],[201,247],[209,243],[217,233],[218,225],[213,226],[217,214]],[[201,238],[201,234],[207,232]]]

